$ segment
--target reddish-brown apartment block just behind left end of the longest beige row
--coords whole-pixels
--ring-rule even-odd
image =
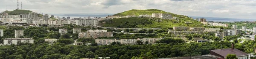
[[[80,32],[79,38],[113,37],[113,32]]]

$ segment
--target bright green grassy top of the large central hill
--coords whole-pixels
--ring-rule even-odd
[[[162,11],[162,10],[157,10],[157,9],[147,9],[147,10],[136,10],[136,9],[132,9],[132,10],[125,11],[125,12],[122,12],[122,13],[114,14],[114,16],[152,15],[152,13],[168,13],[168,12]],[[169,14],[172,14],[173,16],[176,15],[176,14],[174,14],[174,13],[169,13]]]

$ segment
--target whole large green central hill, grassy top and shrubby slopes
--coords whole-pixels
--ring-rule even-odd
[[[166,11],[161,11],[157,9],[148,10],[130,10],[122,13],[117,13],[115,16],[131,16],[152,13],[169,13]],[[175,26],[184,27],[203,27],[201,22],[190,19],[188,16],[177,15],[174,13],[169,13],[172,16],[176,16],[177,19],[159,19],[159,18],[149,18],[149,17],[130,17],[130,18],[119,18],[119,19],[109,19],[99,21],[99,24],[103,27],[128,27],[128,28],[172,28]],[[190,23],[186,23],[190,22]]]

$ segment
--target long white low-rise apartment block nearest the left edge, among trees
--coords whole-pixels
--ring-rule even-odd
[[[32,39],[32,38],[5,38],[5,39],[3,39],[4,45],[11,45],[11,44],[17,45],[18,43],[34,43],[34,39]]]

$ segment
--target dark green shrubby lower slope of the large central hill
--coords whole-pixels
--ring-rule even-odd
[[[192,24],[186,24],[189,21]],[[198,21],[189,18],[180,18],[179,21],[174,19],[158,19],[148,17],[129,17],[119,19],[109,19],[99,21],[103,27],[125,27],[125,28],[172,28],[172,27],[203,27]]]

